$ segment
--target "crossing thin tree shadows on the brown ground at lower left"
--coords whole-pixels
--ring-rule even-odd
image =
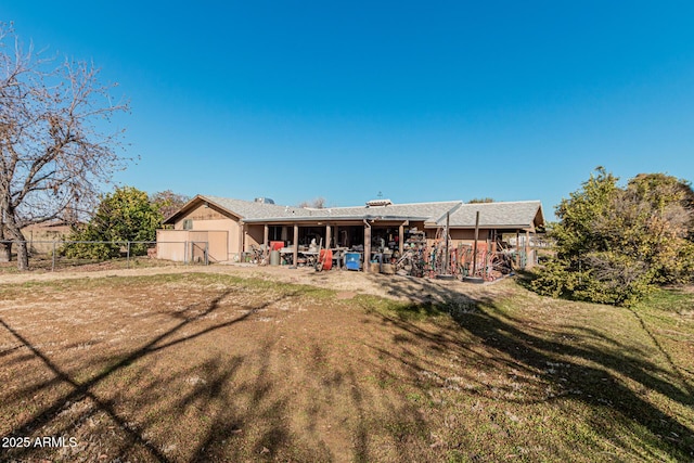
[[[51,401],[50,404],[42,407],[39,411],[34,413],[28,419],[24,420],[21,425],[15,426],[10,433],[0,436],[0,438],[4,439],[9,437],[25,437],[31,436],[37,429],[46,429],[47,426],[52,428],[51,434],[53,436],[69,436],[70,432],[74,432],[77,426],[79,426],[82,422],[85,422],[90,416],[94,416],[99,412],[104,413],[110,420],[115,423],[115,427],[117,430],[121,433],[120,439],[112,439],[110,445],[113,445],[114,441],[120,440],[120,447],[115,451],[116,455],[130,454],[134,455],[136,459],[142,459],[146,461],[160,461],[160,462],[169,462],[169,461],[178,461],[176,458],[170,458],[167,455],[167,452],[162,450],[160,446],[156,446],[145,436],[145,429],[147,425],[151,423],[143,424],[133,424],[129,422],[123,412],[119,411],[119,404],[112,399],[102,398],[101,394],[97,394],[95,390],[102,385],[104,382],[107,382],[113,376],[117,375],[119,372],[126,370],[134,362],[141,361],[142,359],[146,359],[147,357],[162,351],[164,349],[169,349],[176,345],[187,343],[194,338],[204,336],[206,334],[216,332],[218,330],[222,330],[226,327],[230,327],[237,323],[241,323],[258,311],[265,309],[266,307],[275,304],[282,299],[294,296],[294,294],[288,294],[281,296],[274,300],[267,301],[257,307],[249,308],[244,314],[234,318],[232,320],[226,321],[223,323],[213,324],[211,326],[204,327],[202,330],[195,331],[190,334],[184,334],[183,336],[177,337],[180,335],[184,329],[193,329],[195,330],[195,322],[205,319],[206,317],[213,314],[219,308],[219,303],[224,299],[230,294],[230,291],[224,291],[220,293],[217,297],[215,297],[209,305],[202,311],[197,313],[190,313],[190,316],[176,313],[175,317],[177,320],[180,320],[172,327],[166,330],[163,334],[159,334],[153,338],[151,338],[146,344],[140,347],[137,350],[131,351],[125,357],[120,357],[112,365],[105,368],[99,374],[90,377],[88,381],[80,382],[77,381],[74,376],[70,376],[69,373],[62,370],[51,358],[44,353],[39,347],[33,344],[28,338],[23,336],[20,332],[14,330],[11,325],[9,325],[4,320],[0,319],[0,325],[4,327],[9,333],[12,334],[20,343],[21,347],[26,347],[30,352],[31,359],[38,359],[44,366],[48,368],[53,374],[54,378],[43,382],[39,385],[31,385],[28,388],[31,389],[34,394],[39,393],[41,389],[47,389],[49,387],[53,387],[56,384],[66,385],[69,389],[66,394],[62,394],[60,397],[55,398]],[[23,356],[24,360],[29,360],[29,357]],[[219,400],[219,391],[221,388],[229,384],[234,376],[235,372],[240,368],[240,365],[244,362],[243,357],[232,357],[230,359],[218,359],[213,363],[207,363],[204,368],[208,371],[211,371],[213,374],[208,380],[205,381],[202,387],[197,387],[194,389],[192,396],[183,397],[181,399],[181,406],[185,407],[187,403],[191,401],[202,401],[202,406],[198,403],[197,407],[208,408],[211,410],[209,403],[213,401]],[[197,366],[195,366],[197,370]],[[183,371],[181,373],[176,372],[178,376],[180,374],[187,374],[191,372]],[[191,373],[192,374],[192,373]],[[174,380],[172,377],[166,378],[164,382],[159,381],[160,378],[156,378],[156,382],[151,385],[150,390],[138,391],[141,393],[143,397],[155,397],[162,396],[163,388],[166,387],[167,381]],[[257,383],[250,385],[244,385],[247,391],[252,391],[254,395],[255,402],[258,402],[271,388],[271,385],[267,383],[267,380],[262,377],[262,369],[259,371],[257,376]],[[28,390],[28,389],[27,389]],[[26,393],[26,390],[25,390]],[[59,424],[60,428],[55,428],[56,421],[60,423],[60,415],[65,412],[70,406],[80,402],[82,400],[87,400],[91,402],[91,406],[87,408],[90,409],[86,415],[79,417],[79,420],[70,423],[70,424]],[[143,403],[145,406],[146,403]],[[223,408],[222,408],[223,409]],[[281,403],[272,403],[269,407],[269,410],[273,410],[274,412],[281,412]],[[172,410],[168,409],[166,412],[170,413]],[[211,413],[211,412],[210,412]],[[160,416],[159,416],[160,417]],[[175,419],[175,417],[174,417]],[[191,461],[205,461],[208,460],[208,452],[210,449],[210,442],[220,437],[230,437],[235,436],[237,432],[237,423],[243,421],[243,415],[236,415],[233,410],[222,410],[217,416],[215,416],[215,425],[210,427],[209,435],[206,439],[203,439],[202,442],[197,446],[197,449],[194,451],[194,456]],[[272,420],[268,420],[268,423],[273,423]],[[278,422],[278,426],[271,427],[267,430],[267,436],[261,439],[266,446],[269,447],[269,451],[271,451],[275,446],[282,443],[283,439],[286,436],[286,430],[281,426],[282,423]],[[113,426],[111,427],[113,428]],[[114,432],[112,432],[114,434]],[[33,439],[34,441],[34,439]],[[187,442],[193,445],[194,442]],[[3,449],[5,450],[5,449]],[[46,450],[39,447],[23,447],[23,448],[14,448],[10,449],[7,453],[8,458],[16,459],[16,460],[25,460],[31,458],[38,458],[41,455],[46,455]],[[48,449],[51,450],[51,449]],[[264,450],[264,449],[260,449]],[[113,449],[110,448],[107,450],[103,450],[103,458],[112,458],[113,455],[107,455],[113,453]],[[83,455],[81,455],[83,456]],[[93,456],[97,458],[95,455]],[[226,455],[229,458],[229,455]],[[188,459],[187,459],[188,460]]]

